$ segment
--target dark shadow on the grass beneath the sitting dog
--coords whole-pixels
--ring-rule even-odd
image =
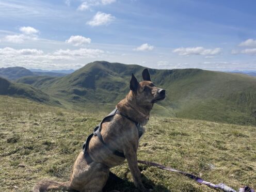
[[[153,189],[153,191],[170,191],[163,185],[155,185],[151,180],[149,180],[145,175],[141,174],[141,180],[143,185],[147,189]],[[120,192],[129,192],[129,191],[139,191],[133,182],[128,181],[127,179],[121,179],[116,174],[109,172],[109,177],[106,185],[103,188],[104,192],[111,190],[119,190]]]

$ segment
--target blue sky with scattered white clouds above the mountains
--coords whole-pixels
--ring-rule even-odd
[[[0,68],[256,71],[256,1],[0,0]]]

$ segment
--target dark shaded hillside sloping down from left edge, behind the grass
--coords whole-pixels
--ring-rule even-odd
[[[51,97],[43,91],[21,83],[12,83],[7,79],[0,77],[0,95],[10,95],[15,97],[27,98],[40,103],[58,105],[58,101],[51,99]]]

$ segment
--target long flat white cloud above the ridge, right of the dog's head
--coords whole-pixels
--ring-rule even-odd
[[[221,53],[220,48],[215,49],[204,49],[202,46],[197,47],[180,47],[172,51],[173,53],[178,53],[179,55],[217,55]]]

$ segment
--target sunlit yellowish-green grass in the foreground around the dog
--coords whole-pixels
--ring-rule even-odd
[[[43,178],[67,181],[82,144],[107,115],[81,113],[0,96],[0,188],[29,191]],[[200,120],[151,117],[138,159],[198,175],[215,184],[256,188],[256,132]],[[214,191],[183,175],[139,165],[154,191]],[[127,163],[112,169],[125,180],[115,189],[134,191]]]

